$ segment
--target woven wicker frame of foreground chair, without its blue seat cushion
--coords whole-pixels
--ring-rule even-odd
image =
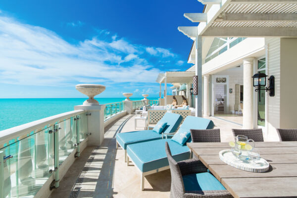
[[[186,191],[183,176],[197,173],[206,173],[207,168],[200,160],[195,159],[176,162],[171,155],[171,151],[167,142],[165,143],[165,150],[171,172],[170,198],[233,198],[227,190]]]

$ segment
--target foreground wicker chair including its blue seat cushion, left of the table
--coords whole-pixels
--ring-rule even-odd
[[[170,198],[233,198],[200,160],[176,162],[168,143],[165,150],[171,172]]]

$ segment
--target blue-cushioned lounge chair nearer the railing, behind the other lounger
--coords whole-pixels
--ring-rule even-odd
[[[178,126],[182,122],[183,117],[175,113],[165,113],[158,123],[166,122],[167,125],[163,130],[163,133],[173,133],[177,130]],[[152,130],[133,131],[127,133],[119,133],[116,135],[116,148],[118,145],[125,150],[125,162],[127,162],[127,145],[147,142],[152,140],[158,140],[162,138],[162,134],[158,134]]]

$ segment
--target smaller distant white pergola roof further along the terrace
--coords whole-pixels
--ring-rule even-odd
[[[165,73],[159,73],[156,82],[157,83],[192,83],[194,71],[167,71]]]

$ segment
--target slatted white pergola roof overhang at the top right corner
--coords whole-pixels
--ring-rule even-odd
[[[186,13],[198,26],[178,27],[202,37],[297,37],[297,0],[199,0],[206,13]]]

